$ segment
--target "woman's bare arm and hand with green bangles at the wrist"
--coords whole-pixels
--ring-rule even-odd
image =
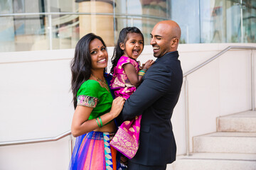
[[[111,120],[117,117],[119,113],[122,111],[124,106],[124,98],[118,97],[115,98],[112,103],[112,108],[109,113],[105,113],[101,115],[100,118],[102,120],[102,125],[107,124]],[[90,113],[92,113],[92,109],[87,106],[77,106],[75,108],[75,113],[73,115],[72,125],[71,125],[71,132],[74,137],[78,137],[83,135],[87,132],[91,132],[92,130],[97,130],[99,125],[95,119],[88,120]],[[100,119],[97,118],[98,123],[100,123]]]

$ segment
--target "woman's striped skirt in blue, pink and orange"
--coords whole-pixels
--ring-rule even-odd
[[[75,140],[75,147],[70,160],[71,170],[119,170],[120,153],[110,147],[113,135],[108,132],[88,132]]]

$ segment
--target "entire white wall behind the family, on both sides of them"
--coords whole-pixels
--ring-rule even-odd
[[[256,47],[256,44],[180,45],[183,73],[230,45]],[[108,52],[111,57],[113,47]],[[215,118],[220,115],[250,110],[251,54],[255,57],[255,50],[230,50],[188,76],[191,137],[214,132]],[[73,55],[73,49],[0,53],[0,142],[55,137],[70,130]],[[151,46],[146,46],[139,60],[143,63],[149,59],[154,57]],[[183,90],[172,123],[177,154],[185,154]],[[69,137],[65,137],[58,142],[0,147],[0,169],[67,169],[68,143]]]

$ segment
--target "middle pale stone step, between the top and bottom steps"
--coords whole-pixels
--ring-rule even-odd
[[[256,154],[256,132],[213,132],[193,137],[193,152]]]

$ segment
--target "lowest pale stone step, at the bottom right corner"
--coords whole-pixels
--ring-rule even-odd
[[[194,153],[179,156],[167,170],[255,170],[256,154]]]

